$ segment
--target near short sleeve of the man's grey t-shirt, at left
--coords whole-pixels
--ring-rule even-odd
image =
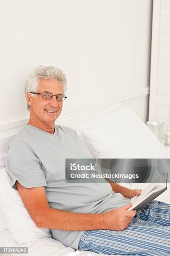
[[[11,186],[14,189],[16,189],[16,180],[27,188],[47,186],[42,164],[27,143],[13,141],[8,144],[5,160]]]

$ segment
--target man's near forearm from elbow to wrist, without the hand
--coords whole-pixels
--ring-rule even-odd
[[[95,230],[105,229],[100,213],[75,213],[53,208],[39,210],[36,225],[39,228],[59,230]]]

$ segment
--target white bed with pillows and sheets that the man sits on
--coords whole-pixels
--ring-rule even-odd
[[[133,109],[115,105],[109,114],[76,125],[64,123],[77,131],[95,158],[166,158],[166,151]],[[91,115],[92,117],[92,115]],[[62,124],[62,123],[61,123]],[[6,146],[23,126],[1,133],[0,137],[0,247],[28,247],[29,256],[102,256],[102,253],[75,251],[54,240],[50,230],[35,226],[18,191],[10,187],[3,154]],[[106,169],[107,172],[107,169]],[[147,183],[122,183],[129,188],[143,189]],[[170,203],[169,190],[157,200]],[[3,254],[2,254],[3,255]],[[16,254],[9,254],[16,255]],[[22,253],[20,254],[22,255]],[[24,254],[23,254],[24,255]]]

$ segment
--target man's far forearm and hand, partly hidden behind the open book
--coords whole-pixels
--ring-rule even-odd
[[[132,198],[134,197],[135,195],[139,196],[140,195],[140,189],[128,189],[127,187],[123,187],[123,186],[120,186],[119,184],[117,184],[116,182],[112,182],[110,179],[106,179],[107,182],[110,183],[110,186],[112,187],[112,190],[115,192],[115,193],[120,193],[122,194],[125,198]]]

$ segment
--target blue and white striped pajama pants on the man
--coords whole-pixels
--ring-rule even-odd
[[[122,231],[85,231],[78,249],[124,256],[170,256],[170,205],[151,202],[138,210]]]

